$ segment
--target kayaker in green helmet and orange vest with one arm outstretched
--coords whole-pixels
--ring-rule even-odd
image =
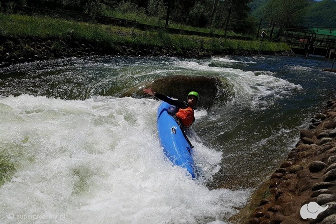
[[[154,96],[172,106],[175,106],[176,108],[170,108],[169,112],[176,116],[178,121],[180,121],[180,124],[183,125],[183,127],[190,127],[190,125],[195,121],[194,116],[194,109],[195,105],[197,104],[199,100],[199,94],[192,91],[188,94],[187,102],[181,102],[177,100],[170,99],[167,96],[164,96],[162,94],[153,92],[151,88],[144,89],[143,93],[148,94],[150,96]]]

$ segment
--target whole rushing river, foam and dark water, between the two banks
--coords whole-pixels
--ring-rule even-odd
[[[324,103],[332,61],[302,57],[93,57],[0,69],[1,223],[229,223],[279,167]],[[218,76],[234,97],[196,110],[202,176],[160,148],[153,99],[128,88],[171,75]],[[201,96],[202,97],[202,96]]]

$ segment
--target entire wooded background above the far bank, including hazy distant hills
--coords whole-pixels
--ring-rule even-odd
[[[15,5],[28,8],[25,13],[36,13],[34,8],[68,10],[87,13],[92,21],[104,15],[141,24],[252,36],[261,17],[264,28],[273,23],[278,33],[292,26],[336,27],[336,0],[0,0],[0,12],[21,13]]]

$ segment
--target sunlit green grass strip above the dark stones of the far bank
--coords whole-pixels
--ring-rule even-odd
[[[289,46],[284,43],[257,40],[245,41],[225,38],[169,34],[164,29],[141,31],[129,27],[119,27],[87,22],[76,22],[52,17],[27,16],[0,13],[0,35],[4,37],[72,38],[104,43],[109,46],[129,44],[134,46],[170,48],[176,51],[203,49],[212,52],[235,50],[284,51]],[[123,35],[120,35],[120,32]],[[58,46],[53,46],[57,48]]]

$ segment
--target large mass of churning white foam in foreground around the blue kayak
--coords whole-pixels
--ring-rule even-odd
[[[1,223],[227,222],[249,191],[210,191],[222,155],[195,142],[203,179],[165,159],[154,100],[0,98]],[[194,141],[194,139],[192,139]]]

